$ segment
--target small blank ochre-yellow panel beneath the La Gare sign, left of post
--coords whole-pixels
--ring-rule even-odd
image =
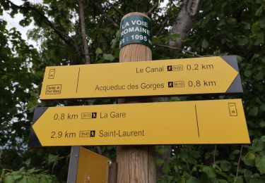
[[[107,183],[108,158],[80,147],[76,183]]]

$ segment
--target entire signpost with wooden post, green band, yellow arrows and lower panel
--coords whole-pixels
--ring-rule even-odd
[[[151,38],[147,15],[125,15],[119,42],[123,63],[47,67],[40,99],[242,92],[235,56],[151,61]],[[78,146],[250,142],[241,99],[123,102],[36,108],[28,145],[73,146],[68,182],[107,182],[108,159]],[[109,182],[155,182],[154,146],[117,146],[117,164],[110,170],[116,168],[117,179],[112,173]]]

